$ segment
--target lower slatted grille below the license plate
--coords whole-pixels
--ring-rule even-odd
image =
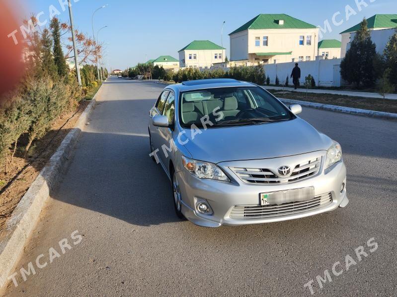
[[[248,205],[235,206],[230,213],[233,219],[260,219],[280,217],[312,211],[332,203],[331,193],[315,197],[313,200],[304,202],[284,203],[280,205]]]

